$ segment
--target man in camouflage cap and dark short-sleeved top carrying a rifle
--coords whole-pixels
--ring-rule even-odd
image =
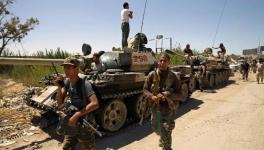
[[[62,106],[65,98],[69,98],[72,105],[78,108],[72,116],[67,116],[65,137],[63,141],[63,149],[75,149],[75,145],[79,141],[83,149],[95,149],[95,135],[89,128],[81,128],[77,126],[77,122],[81,117],[89,115],[90,122],[95,123],[92,111],[99,107],[97,97],[88,80],[81,79],[78,76],[80,62],[76,58],[66,58],[62,66],[67,77],[64,84],[60,84],[62,77],[54,77],[54,84],[58,86],[57,104],[58,108]],[[79,88],[83,85],[84,90]],[[81,93],[81,92],[84,93]]]

